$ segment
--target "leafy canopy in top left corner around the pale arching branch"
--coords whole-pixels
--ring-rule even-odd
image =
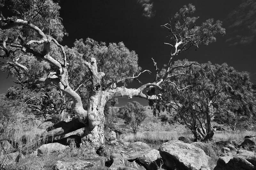
[[[4,17],[10,14],[15,18],[26,20],[58,41],[61,41],[66,34],[62,25],[62,18],[60,18],[60,5],[52,0],[0,0],[0,7],[5,9]],[[16,33],[20,33],[27,40],[37,37],[36,33],[26,26],[19,26],[6,31],[1,30],[3,37]]]

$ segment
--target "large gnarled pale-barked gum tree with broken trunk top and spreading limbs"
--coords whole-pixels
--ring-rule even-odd
[[[108,101],[119,97],[161,100],[161,85],[168,83],[170,77],[177,76],[172,75],[173,70],[177,68],[172,67],[177,55],[193,46],[198,48],[201,44],[208,45],[216,40],[216,33],[225,33],[221,22],[214,23],[213,19],[206,20],[202,26],[195,26],[197,18],[190,17],[195,7],[191,4],[185,5],[175,14],[175,24],[170,20],[170,23],[163,26],[170,32],[170,42],[165,44],[171,46],[169,61],[164,67],[164,76],[158,77],[159,69],[153,60],[156,68],[155,80],[139,88],[126,88],[126,83],[132,80],[140,82],[138,77],[149,70],[141,71],[138,56],[134,51],[128,50],[122,42],[110,43],[107,46],[92,39],[81,39],[74,43],[73,48],[66,48],[58,42],[62,40],[65,30],[59,17],[60,6],[57,3],[53,3],[52,0],[2,0],[0,5],[10,9],[14,15],[4,17],[3,14],[0,18],[0,47],[4,64],[11,66],[16,71],[18,79],[25,79],[25,83],[53,85],[61,95],[72,100],[71,111],[76,114],[77,119],[53,126],[54,129],[51,129],[48,135],[58,136],[85,127],[84,139],[92,143],[104,142],[103,110]],[[81,98],[83,92],[78,93],[76,87],[70,83],[72,78],[69,67],[72,66],[72,61],[68,61],[69,55],[77,56],[81,60],[77,74],[80,71],[88,73],[89,78],[86,79],[89,81],[86,87],[89,92],[84,103]],[[36,77],[29,75],[26,64],[30,61],[28,58],[48,65],[43,74]],[[152,88],[155,89],[154,93],[145,93]]]

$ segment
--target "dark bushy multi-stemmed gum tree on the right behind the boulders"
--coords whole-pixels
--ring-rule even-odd
[[[175,65],[190,63],[184,60]],[[226,63],[213,65],[210,62],[177,69],[176,73],[185,76],[172,78],[173,84],[162,86],[161,104],[169,115],[165,120],[186,125],[195,140],[212,140],[215,113],[228,114],[229,120],[233,119],[231,115],[254,116],[255,98],[249,73],[238,72]],[[183,91],[177,90],[185,87]],[[236,120],[232,123],[236,128]]]

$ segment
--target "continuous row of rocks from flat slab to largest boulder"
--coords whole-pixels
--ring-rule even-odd
[[[162,144],[158,150],[150,149],[143,142],[135,142],[133,146],[137,151],[112,153],[109,160],[100,156],[91,159],[64,158],[57,161],[53,169],[66,170],[76,167],[76,169],[106,168],[109,170],[157,170],[160,168],[210,170],[204,151],[193,144],[171,140]]]

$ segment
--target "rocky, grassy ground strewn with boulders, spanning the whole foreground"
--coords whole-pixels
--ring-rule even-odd
[[[1,140],[0,164],[4,169],[54,170],[256,169],[256,137],[253,136],[256,134],[253,131],[232,133],[235,138],[230,131],[216,131],[212,142],[193,142],[186,127],[163,124],[148,107],[146,110],[148,116],[137,136],[125,128],[121,119],[116,119],[113,128],[106,129],[106,142],[101,146],[82,142],[83,129],[27,153],[18,151],[10,140]],[[26,131],[29,129],[26,127]]]

